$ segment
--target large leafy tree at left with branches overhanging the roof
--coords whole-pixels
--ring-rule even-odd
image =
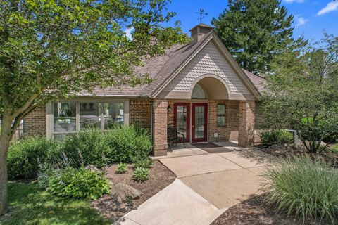
[[[187,39],[178,23],[163,26],[175,15],[168,1],[0,0],[0,214],[8,146],[20,120],[72,93],[149,82],[132,68]]]

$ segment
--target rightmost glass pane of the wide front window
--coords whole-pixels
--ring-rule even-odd
[[[124,103],[104,103],[104,129],[111,129],[113,124],[124,123]]]

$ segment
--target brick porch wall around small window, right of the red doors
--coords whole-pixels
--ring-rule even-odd
[[[217,126],[217,105],[225,104],[225,127]],[[209,101],[209,141],[237,141],[238,139],[238,101]],[[218,137],[215,137],[215,133]]]

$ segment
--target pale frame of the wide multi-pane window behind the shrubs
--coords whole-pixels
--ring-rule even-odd
[[[54,131],[54,103],[75,103],[75,107],[76,107],[76,116],[75,116],[75,131],[68,131],[68,132],[58,132],[58,131]],[[71,100],[61,100],[61,101],[53,101],[50,103],[50,134],[47,136],[49,136],[50,138],[54,139],[54,135],[67,135],[67,134],[79,134],[80,131],[83,131],[83,129],[80,129],[80,103],[101,103],[100,104],[100,110],[101,110],[101,114],[99,115],[99,117],[101,118],[101,125],[99,127],[99,129],[101,131],[106,131],[107,129],[104,129],[104,103],[123,103],[123,124],[128,125],[129,124],[129,99],[107,99],[106,101],[97,101],[97,100],[76,100],[76,101],[71,101]]]

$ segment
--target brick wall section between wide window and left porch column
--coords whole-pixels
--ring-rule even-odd
[[[139,127],[149,128],[151,126],[151,102],[145,98],[135,98],[129,101],[129,122]]]

